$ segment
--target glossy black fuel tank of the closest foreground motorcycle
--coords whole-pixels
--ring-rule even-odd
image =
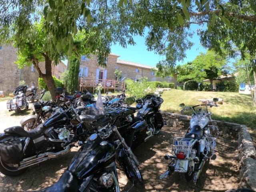
[[[90,136],[90,140],[80,148],[68,166],[68,170],[78,179],[86,178],[115,161],[114,146],[100,138],[98,134],[93,135],[94,140]]]

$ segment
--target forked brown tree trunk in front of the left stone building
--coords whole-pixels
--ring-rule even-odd
[[[56,101],[56,93],[55,93],[55,82],[52,78],[52,60],[49,58],[48,54],[43,54],[44,58],[45,58],[45,74],[42,73],[42,71],[40,70],[38,64],[38,59],[37,58],[33,58],[33,64],[36,68],[36,70],[38,71],[39,77],[43,78],[43,80],[46,83],[46,86],[48,88],[48,90],[50,91],[50,94],[52,96],[52,101]]]

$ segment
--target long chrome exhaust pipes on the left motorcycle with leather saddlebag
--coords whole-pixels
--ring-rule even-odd
[[[59,155],[65,154],[70,150],[70,146],[67,146],[64,150],[59,152],[46,152],[43,154],[39,154],[38,156],[32,156],[29,158],[26,158],[20,162],[20,166],[17,168],[18,170],[38,164],[40,162],[46,161],[48,159],[57,157]]]

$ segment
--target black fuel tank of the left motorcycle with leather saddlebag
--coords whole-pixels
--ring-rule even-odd
[[[68,116],[66,113],[55,113],[48,120],[44,122],[46,128],[52,126],[59,126],[68,123]]]

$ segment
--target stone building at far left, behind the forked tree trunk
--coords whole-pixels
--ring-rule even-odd
[[[11,45],[0,46],[0,90],[7,94],[19,86],[19,82],[24,80],[28,86],[38,86],[38,72],[32,66],[25,66],[22,69],[14,62],[17,61],[17,50]],[[40,62],[39,67],[42,72],[45,71],[44,63]],[[60,63],[57,66],[52,64],[52,74],[60,77],[66,70],[66,65]]]

